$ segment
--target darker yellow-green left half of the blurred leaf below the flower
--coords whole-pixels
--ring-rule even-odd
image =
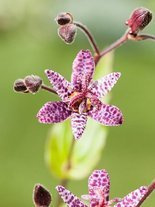
[[[50,171],[61,179],[68,177],[66,166],[71,143],[72,133],[69,121],[55,124],[51,128],[45,145],[45,161]]]

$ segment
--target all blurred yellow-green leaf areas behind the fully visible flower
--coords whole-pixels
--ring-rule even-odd
[[[99,62],[95,71],[95,79],[112,70],[112,54]],[[71,167],[68,159],[72,146],[72,131],[69,121],[55,124],[49,133],[45,158],[52,174],[60,179],[82,179],[88,176],[100,160],[106,141],[107,130],[92,119],[88,119],[86,130],[80,140],[75,141]]]

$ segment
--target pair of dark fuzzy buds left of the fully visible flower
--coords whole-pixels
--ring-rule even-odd
[[[33,93],[39,91],[42,85],[42,79],[37,75],[29,75],[24,79],[17,79],[14,82],[14,90],[19,93]]]

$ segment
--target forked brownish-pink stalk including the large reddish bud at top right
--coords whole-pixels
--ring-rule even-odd
[[[141,40],[155,40],[154,35],[142,34],[139,35],[139,31],[143,30],[152,20],[152,13],[146,8],[138,8],[133,11],[131,17],[126,21],[126,25],[129,27],[125,34],[119,38],[116,42],[112,43],[109,47],[105,48],[103,51],[100,51],[99,47],[96,44],[96,40],[88,30],[88,28],[83,25],[81,22],[73,21],[73,24],[76,25],[82,32],[87,36],[95,54],[94,60],[95,65],[99,62],[99,60],[105,56],[107,53],[112,50],[120,47],[128,40],[141,41]]]

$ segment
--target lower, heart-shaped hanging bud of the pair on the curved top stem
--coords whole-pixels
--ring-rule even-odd
[[[74,42],[76,37],[77,27],[74,24],[66,24],[58,28],[58,34],[67,44]]]

